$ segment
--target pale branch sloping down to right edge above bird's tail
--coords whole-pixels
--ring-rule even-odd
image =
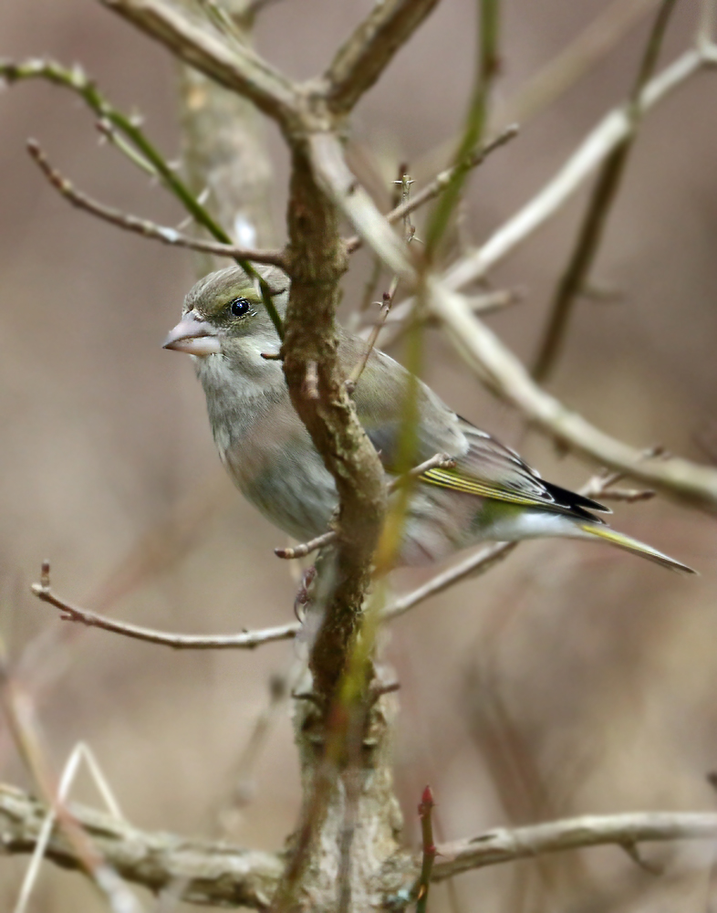
[[[717,471],[677,456],[645,460],[639,449],[590,425],[537,386],[522,362],[475,317],[465,299],[440,283],[432,289],[431,311],[442,321],[457,351],[481,377],[487,376],[494,393],[514,404],[556,441],[650,488],[703,509],[717,510]]]

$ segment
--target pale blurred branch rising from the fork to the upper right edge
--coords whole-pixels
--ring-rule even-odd
[[[651,79],[639,99],[640,114],[652,109],[703,68],[717,65],[717,50],[710,44],[685,51]],[[624,108],[610,111],[580,144],[577,151],[535,197],[510,218],[482,247],[446,270],[449,289],[462,289],[483,278],[489,269],[512,254],[526,238],[565,205],[586,178],[622,142],[630,130]]]

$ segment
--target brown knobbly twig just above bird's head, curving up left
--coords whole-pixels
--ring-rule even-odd
[[[286,266],[285,257],[280,250],[259,250],[250,247],[234,247],[234,245],[220,244],[217,241],[204,241],[200,238],[182,235],[175,228],[159,226],[149,219],[139,218],[136,215],[124,213],[120,209],[106,206],[92,199],[88,194],[79,191],[47,160],[47,155],[36,140],[27,141],[27,152],[39,165],[42,173],[53,187],[62,194],[71,205],[77,206],[90,215],[97,215],[111,225],[124,228],[143,237],[150,237],[162,244],[171,247],[187,247],[190,250],[200,250],[217,257],[233,257],[234,259],[252,260],[254,263],[266,263],[276,267]]]

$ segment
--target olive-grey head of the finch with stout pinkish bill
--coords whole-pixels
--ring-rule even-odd
[[[283,317],[289,278],[276,267],[258,267]],[[240,267],[228,267],[200,279],[184,299],[182,320],[164,341],[165,349],[188,352],[201,362],[220,356],[224,363],[261,370],[263,352],[277,352],[280,341],[262,303],[259,283]],[[266,362],[264,362],[266,364]]]

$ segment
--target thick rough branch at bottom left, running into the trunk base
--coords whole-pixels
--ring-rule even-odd
[[[155,893],[176,890],[179,899],[195,904],[258,910],[269,907],[283,867],[279,855],[140,831],[109,814],[74,803],[69,809],[102,858],[127,881]],[[25,792],[0,785],[0,854],[31,853],[46,815],[47,807]],[[46,855],[63,868],[81,868],[78,857],[57,831],[50,838]]]

